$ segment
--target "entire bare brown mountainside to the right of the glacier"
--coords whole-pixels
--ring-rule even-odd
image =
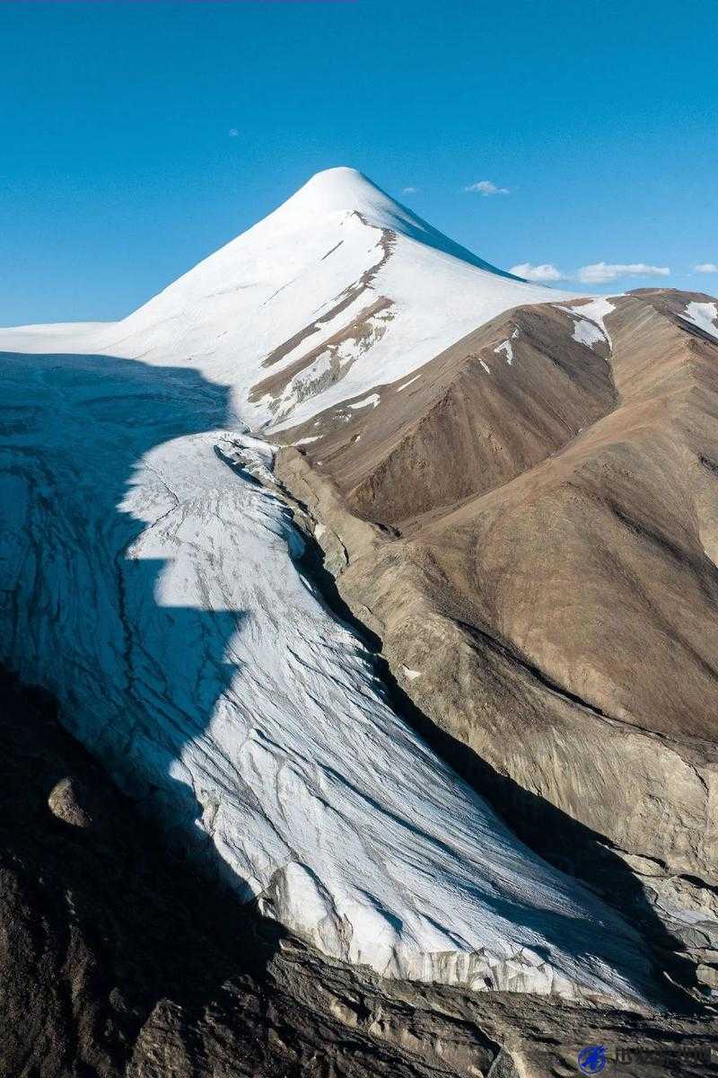
[[[351,466],[333,432],[278,468],[399,681],[516,786],[515,826],[537,794],[614,845],[716,983],[718,341],[681,317],[707,299],[613,301],[610,354],[553,306],[511,312],[428,364],[400,421],[380,393]]]

